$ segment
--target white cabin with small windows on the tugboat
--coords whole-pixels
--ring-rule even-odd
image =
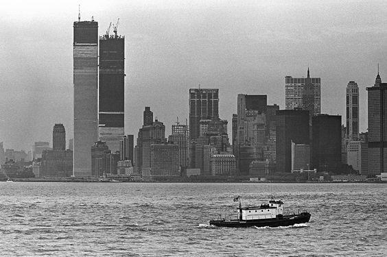
[[[274,219],[277,215],[283,215],[283,202],[281,200],[270,200],[269,204],[261,204],[261,206],[251,206],[238,208],[239,220],[250,219]]]

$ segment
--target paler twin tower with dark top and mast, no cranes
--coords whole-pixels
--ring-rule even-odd
[[[73,175],[91,176],[91,146],[98,138],[98,23],[73,24],[74,158]]]

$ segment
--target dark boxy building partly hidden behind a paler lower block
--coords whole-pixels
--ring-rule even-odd
[[[292,171],[292,141],[309,145],[309,111],[278,110],[276,114],[276,171]]]

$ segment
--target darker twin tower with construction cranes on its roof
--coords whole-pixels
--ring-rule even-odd
[[[99,140],[119,151],[124,136],[124,36],[99,37]]]

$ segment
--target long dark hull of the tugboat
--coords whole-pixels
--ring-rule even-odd
[[[283,217],[277,217],[274,219],[252,219],[246,221],[239,221],[237,219],[226,221],[224,219],[211,219],[210,225],[216,225],[218,227],[226,228],[248,228],[248,227],[286,227],[288,225],[294,225],[299,223],[307,223],[310,219],[309,212],[301,212],[297,215],[284,215]]]

